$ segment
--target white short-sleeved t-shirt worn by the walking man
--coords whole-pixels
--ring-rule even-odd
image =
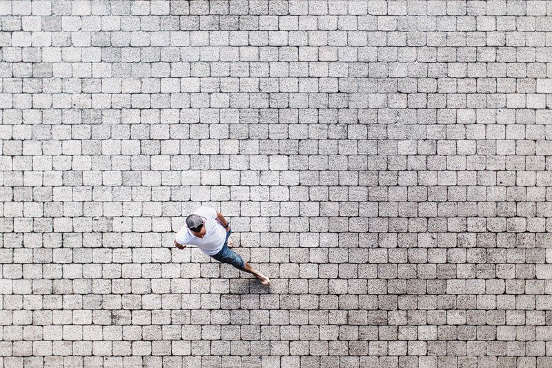
[[[205,235],[203,238],[197,238],[186,226],[180,229],[175,237],[178,244],[183,245],[195,245],[206,255],[214,255],[219,253],[224,246],[226,240],[226,229],[220,222],[215,220],[217,218],[217,211],[207,206],[201,206],[195,210],[196,215],[200,215],[205,220]]]

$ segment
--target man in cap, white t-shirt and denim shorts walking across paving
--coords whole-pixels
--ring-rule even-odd
[[[211,258],[232,264],[239,270],[251,273],[262,284],[268,285],[270,280],[265,275],[253,269],[239,254],[230,249],[233,247],[233,242],[228,242],[231,233],[230,222],[226,221],[222,213],[210,207],[201,206],[186,217],[186,226],[182,226],[178,231],[175,246],[178,249],[184,249],[186,245],[195,245]]]

